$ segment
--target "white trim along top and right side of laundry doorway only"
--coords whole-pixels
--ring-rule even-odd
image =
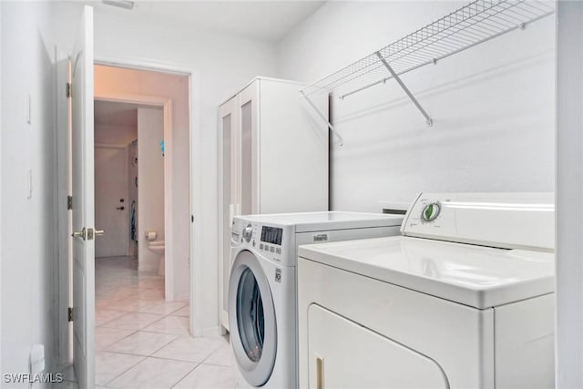
[[[190,215],[195,222],[190,223],[190,333],[194,336],[202,336],[203,333],[214,331],[214,327],[204,328],[205,318],[203,312],[212,312],[218,308],[218,302],[212,299],[207,301],[204,297],[202,271],[197,271],[203,265],[202,229],[195,228],[200,222],[199,217],[204,210],[202,193],[202,154],[203,142],[201,131],[194,131],[200,128],[200,82],[199,71],[192,67],[185,67],[181,64],[167,63],[152,60],[151,58],[139,58],[129,56],[118,56],[111,54],[96,54],[95,63],[98,65],[130,67],[143,70],[163,71],[189,76],[189,160],[190,160]],[[195,152],[196,148],[196,152]],[[216,305],[212,307],[210,305]],[[219,322],[219,316],[216,318]],[[217,331],[218,333],[218,331]]]

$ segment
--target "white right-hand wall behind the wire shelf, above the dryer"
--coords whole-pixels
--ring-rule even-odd
[[[328,2],[280,45],[280,76],[312,82],[465,5]],[[552,190],[554,18],[332,101],[332,209],[380,210],[421,190]]]

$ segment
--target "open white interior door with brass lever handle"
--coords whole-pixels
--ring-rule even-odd
[[[79,388],[95,383],[93,8],[85,6],[72,62],[73,363]]]

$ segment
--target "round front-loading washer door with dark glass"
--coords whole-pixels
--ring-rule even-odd
[[[277,351],[271,288],[251,251],[240,251],[230,274],[230,336],[240,373],[253,386],[269,380]]]

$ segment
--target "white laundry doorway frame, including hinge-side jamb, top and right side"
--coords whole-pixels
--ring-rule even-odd
[[[57,59],[66,59],[66,50],[56,47]],[[132,58],[127,56],[104,56],[95,53],[94,56],[95,65],[105,65],[110,67],[126,67],[138,70],[150,70],[162,73],[174,73],[189,77],[189,172],[190,172],[190,215],[191,223],[189,229],[190,237],[190,322],[189,330],[193,336],[201,336],[203,334],[214,333],[215,329],[203,328],[205,318],[203,312],[209,312],[212,309],[212,302],[206,302],[204,299],[204,291],[202,289],[204,274],[199,269],[204,267],[203,261],[203,250],[204,242],[202,240],[202,229],[194,228],[194,216],[201,215],[204,210],[204,204],[202,202],[202,153],[203,142],[201,139],[201,134],[195,132],[194,128],[199,128],[199,118],[200,118],[200,83],[199,83],[199,71],[191,68],[184,67],[181,64],[169,64],[167,62],[161,63],[143,58]],[[59,73],[58,67],[56,67],[56,104],[57,107],[60,105],[68,105],[68,99],[66,98],[66,78],[63,78],[62,73]],[[60,104],[60,105],[59,105]],[[58,206],[58,219],[59,219],[59,229],[57,229],[58,234],[58,278],[59,280],[68,280],[68,282],[58,282],[58,290],[56,294],[58,295],[58,310],[55,314],[56,325],[59,329],[58,331],[58,364],[63,366],[72,361],[72,333],[71,333],[71,323],[66,320],[66,310],[71,306],[71,278],[70,278],[70,211],[66,209],[66,196],[70,194],[70,162],[69,162],[69,149],[67,146],[69,134],[69,128],[67,126],[68,117],[63,117],[63,110],[57,109],[56,115],[56,150],[58,159],[58,169],[57,169],[57,202]],[[195,125],[196,119],[196,125]],[[193,152],[194,148],[197,148],[197,152]],[[196,168],[196,169],[195,169]],[[199,219],[197,219],[199,220]],[[167,261],[168,263],[168,261]],[[218,333],[218,326],[216,332]]]

